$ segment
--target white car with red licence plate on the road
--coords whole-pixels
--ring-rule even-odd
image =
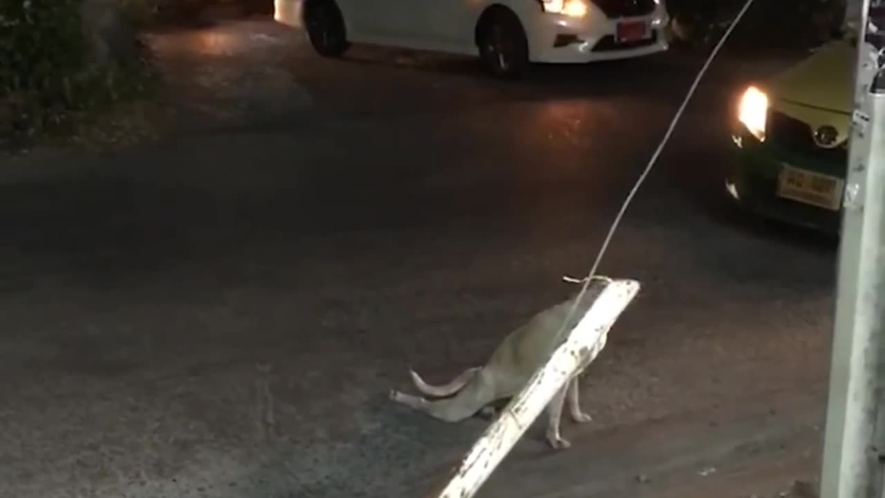
[[[496,76],[531,62],[585,63],[667,50],[664,0],[275,0],[314,49],[350,43],[479,56]]]

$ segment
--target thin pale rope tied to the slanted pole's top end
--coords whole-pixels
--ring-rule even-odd
[[[716,43],[716,46],[713,47],[713,50],[710,52],[710,55],[707,57],[707,60],[704,62],[704,66],[701,67],[700,72],[695,77],[695,82],[691,84],[689,88],[689,92],[686,94],[685,98],[682,100],[682,104],[679,106],[679,110],[676,111],[676,115],[673,116],[673,121],[670,121],[670,127],[667,128],[666,133],[664,134],[664,138],[661,139],[660,144],[658,144],[658,149],[655,150],[655,153],[651,155],[651,159],[649,160],[649,164],[643,170],[643,174],[639,175],[639,178],[636,179],[636,183],[633,185],[633,189],[630,190],[630,193],[627,194],[627,198],[624,199],[624,203],[620,206],[620,211],[614,218],[614,222],[612,222],[612,226],[609,228],[608,234],[606,234],[605,239],[603,241],[603,245],[599,248],[599,253],[596,254],[596,261],[593,261],[593,266],[590,267],[589,274],[583,279],[576,279],[570,276],[564,276],[563,279],[566,282],[579,283],[583,282],[584,284],[581,286],[581,292],[578,292],[577,297],[575,298],[572,308],[569,310],[568,315],[566,315],[566,320],[562,323],[562,327],[559,329],[559,333],[562,333],[566,329],[566,324],[570,323],[573,318],[574,312],[578,308],[578,304],[581,302],[581,298],[584,293],[587,292],[587,289],[590,285],[590,282],[594,280],[596,276],[596,269],[599,268],[599,262],[602,261],[605,251],[608,249],[608,245],[612,242],[612,237],[614,236],[615,230],[618,230],[618,226],[620,225],[621,218],[624,217],[624,213],[627,211],[627,206],[630,205],[630,201],[633,200],[633,197],[636,195],[636,191],[639,191],[639,187],[645,181],[645,177],[649,175],[651,172],[651,168],[655,166],[655,163],[658,162],[658,156],[660,156],[661,152],[664,150],[664,146],[670,140],[670,136],[673,135],[673,129],[676,128],[676,124],[679,123],[680,118],[682,117],[682,113],[685,112],[685,108],[689,105],[689,101],[691,97],[695,95],[695,91],[697,89],[697,85],[700,84],[701,79],[704,77],[704,74],[707,72],[707,68],[710,67],[713,59],[716,58],[716,55],[719,54],[722,45],[725,44],[728,36],[731,35],[731,32],[734,31],[737,23],[741,21],[743,18],[743,14],[750,9],[750,5],[753,4],[753,0],[747,0],[745,4],[743,4],[743,8],[740,12],[737,13],[735,19],[731,21],[726,30],[725,34],[720,38],[719,43]]]

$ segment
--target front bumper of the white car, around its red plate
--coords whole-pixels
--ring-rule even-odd
[[[540,12],[534,20],[533,26],[527,27],[529,58],[533,62],[580,64],[639,57],[668,48],[664,27],[669,17],[663,5],[645,16],[608,19],[590,4],[581,19]],[[615,43],[618,23],[623,21],[647,22],[650,36],[641,42]]]

